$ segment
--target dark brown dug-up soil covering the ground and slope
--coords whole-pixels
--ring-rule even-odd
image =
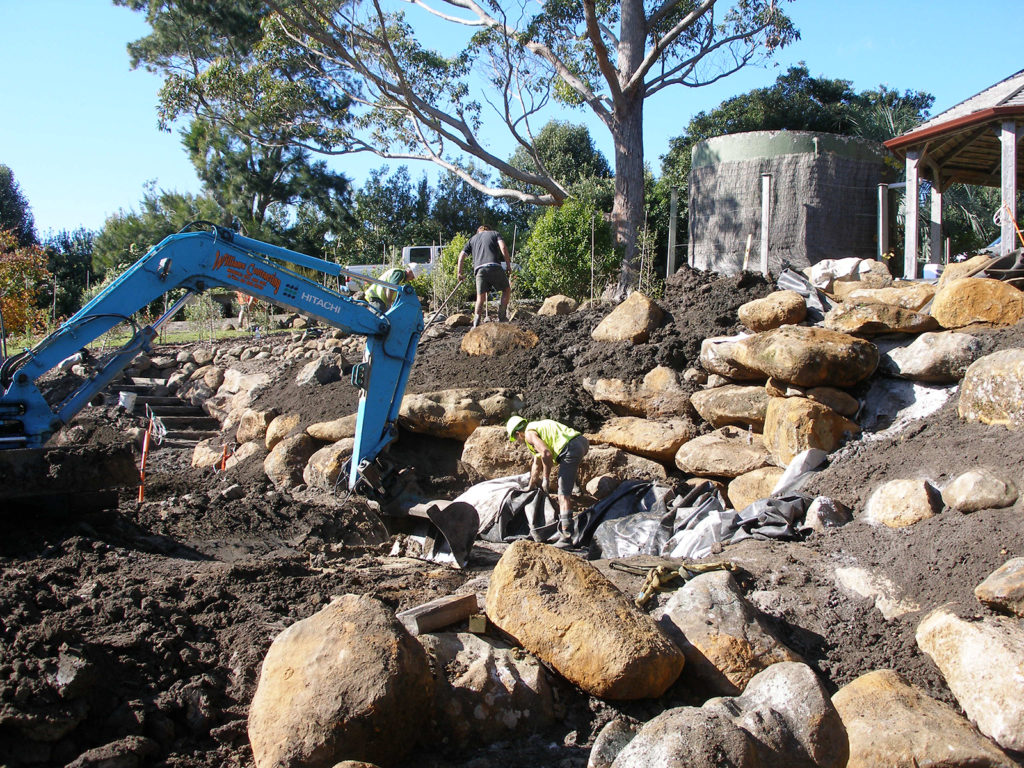
[[[514,322],[540,338],[531,350],[496,358],[459,349],[464,329],[423,341],[409,390],[509,387],[524,394],[523,415],[581,430],[613,416],[582,386],[585,378],[638,379],[657,365],[697,366],[700,341],[736,332],[736,309],[772,286],[757,275],[722,278],[683,269],[659,304],[669,316],[649,343],[597,343],[590,333],[608,307]],[[972,330],[986,351],[1024,346],[1024,327]],[[254,342],[256,343],[256,342]],[[273,343],[267,341],[265,343]],[[174,351],[175,347],[170,347]],[[270,361],[268,361],[270,362]],[[256,367],[256,361],[244,364]],[[264,364],[266,365],[266,364]],[[280,362],[272,362],[274,368]],[[352,413],[347,382],[318,395],[285,369],[260,404],[299,411],[310,424]],[[695,386],[695,385],[694,385]],[[138,426],[115,408],[91,408],[67,429],[78,440],[113,444]],[[430,499],[450,499],[477,477],[461,464],[461,443],[402,431],[392,450],[413,467]],[[396,611],[449,595],[486,574],[494,548],[474,550],[467,571],[389,557],[390,537],[374,504],[273,488],[253,461],[228,473],[190,466],[190,451],[150,458],[145,502],[122,493],[117,506],[73,517],[0,515],[0,766],[252,766],[249,701],[274,636],[346,593],[373,595]],[[937,483],[975,466],[1021,480],[1020,441],[1000,427],[963,423],[952,397],[902,433],[859,440],[830,458],[815,494],[862,509],[879,483],[925,476]],[[685,479],[676,472],[672,482]],[[230,500],[220,492],[241,486]],[[1022,554],[1022,503],[970,515],[944,511],[904,529],[854,521],[803,542],[748,541],[724,550],[744,570],[752,601],[822,677],[829,690],[891,668],[944,701],[955,701],[914,642],[924,612],[952,603],[965,616],[988,612],[974,587]],[[922,611],[885,621],[835,582],[839,565],[887,575]],[[641,579],[602,569],[635,594]],[[651,606],[653,607],[653,604]],[[515,742],[456,751],[431,733],[410,766],[526,768],[585,766],[589,745],[612,717],[647,720],[664,709],[699,703],[675,686],[659,700],[609,703],[556,683],[560,721]],[[429,717],[429,713],[424,713]]]

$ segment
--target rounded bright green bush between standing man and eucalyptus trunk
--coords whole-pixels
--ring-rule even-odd
[[[523,280],[538,297],[583,299],[591,296],[592,285],[599,294],[616,265],[610,227],[593,206],[578,200],[545,211],[523,250]]]

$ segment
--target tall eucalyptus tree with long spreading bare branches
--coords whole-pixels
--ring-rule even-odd
[[[631,282],[643,219],[645,100],[721,80],[798,36],[779,7],[785,0],[404,1],[439,29],[410,22],[401,0],[116,0],[145,10],[165,43],[177,29],[167,16],[215,13],[221,24],[189,26],[214,39],[177,50],[154,36],[131,46],[136,61],[167,77],[165,119],[198,112],[242,125],[255,117],[273,126],[268,134],[317,152],[427,160],[509,201],[565,200],[536,152],[535,130],[553,106],[590,110],[614,146],[621,289]],[[241,8],[242,23],[210,6]],[[253,18],[259,34],[232,46],[228,23],[250,33]],[[438,40],[450,49],[438,50]],[[506,160],[509,137],[531,154],[531,168]],[[466,156],[522,186],[477,180]]]

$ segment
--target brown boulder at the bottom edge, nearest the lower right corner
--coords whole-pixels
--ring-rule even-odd
[[[850,738],[848,768],[1016,765],[956,710],[892,670],[861,675],[840,688],[833,703]]]

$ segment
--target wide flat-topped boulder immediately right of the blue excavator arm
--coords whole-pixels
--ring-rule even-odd
[[[465,440],[480,425],[504,424],[521,409],[522,395],[511,389],[445,389],[407,394],[398,423],[410,432]]]

